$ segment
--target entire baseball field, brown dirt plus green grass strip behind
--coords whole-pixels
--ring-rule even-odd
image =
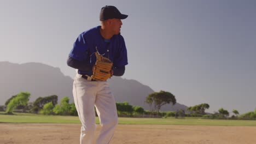
[[[98,119],[96,120],[98,123]],[[98,125],[96,135],[100,127]],[[28,113],[0,115],[0,143],[79,143],[80,123],[73,116]],[[256,143],[256,121],[200,118],[119,118],[112,144]]]

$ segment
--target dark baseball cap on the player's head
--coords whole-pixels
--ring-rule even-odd
[[[126,19],[128,15],[121,14],[120,11],[112,6],[106,5],[105,7],[101,8],[100,13],[100,21],[108,20],[108,19]]]

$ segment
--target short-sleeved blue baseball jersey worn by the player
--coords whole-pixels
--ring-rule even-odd
[[[100,28],[101,26],[97,26],[81,33],[75,41],[69,56],[78,61],[94,65],[96,62],[95,52],[98,50],[101,55],[113,62],[113,67],[127,65],[127,50],[122,35],[113,35],[107,41],[101,36]],[[78,70],[78,73],[92,75],[92,71]]]

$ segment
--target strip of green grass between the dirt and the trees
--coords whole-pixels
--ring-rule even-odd
[[[32,113],[15,113],[4,115],[0,113],[0,123],[80,123],[75,116],[45,116]],[[96,118],[96,123],[99,123]],[[256,121],[246,120],[218,120],[186,118],[124,118],[119,117],[119,124],[166,124],[166,125],[229,125],[229,126],[256,126]]]

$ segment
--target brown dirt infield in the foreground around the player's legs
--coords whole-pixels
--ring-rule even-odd
[[[79,134],[80,124],[0,123],[1,144],[78,144]],[[118,125],[111,144],[247,144],[256,143],[255,134],[256,127]]]

